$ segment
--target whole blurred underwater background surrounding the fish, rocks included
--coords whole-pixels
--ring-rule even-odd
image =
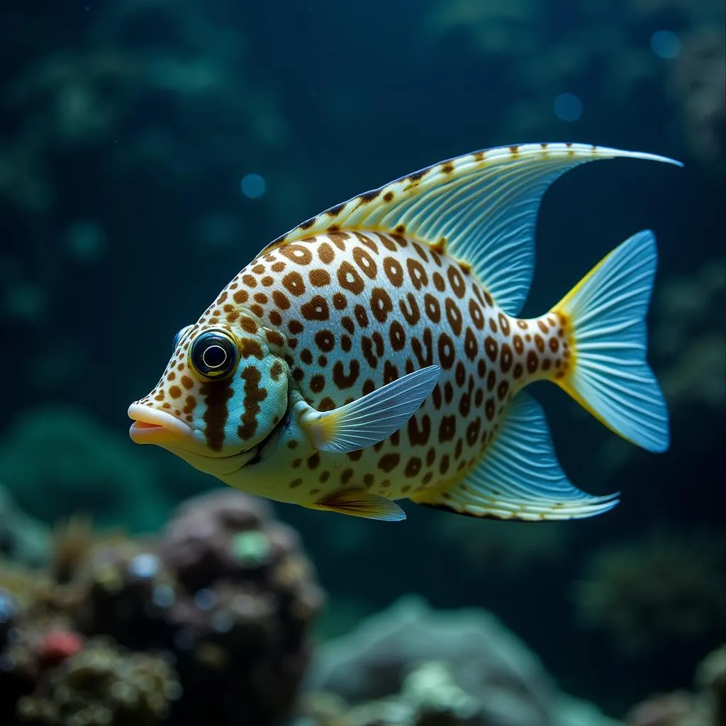
[[[4,0],[0,723],[723,726],[724,12]],[[622,493],[611,513],[362,521],[131,442],[176,331],[266,242],[544,141],[685,163],[587,165],[539,214],[525,316],[634,232],[658,240],[669,451],[534,387],[572,481]]]

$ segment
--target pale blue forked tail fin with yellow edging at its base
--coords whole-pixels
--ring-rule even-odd
[[[653,232],[638,232],[552,308],[569,318],[574,351],[574,364],[555,383],[612,431],[651,452],[665,451],[670,439],[663,393],[645,361],[657,261]]]

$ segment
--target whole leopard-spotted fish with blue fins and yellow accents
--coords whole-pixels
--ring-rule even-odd
[[[568,481],[523,389],[551,381],[632,444],[668,448],[647,362],[653,232],[539,317],[518,313],[544,192],[613,158],[681,166],[587,144],[498,147],[308,219],[177,333],[159,382],[129,407],[131,439],[250,494],[373,520],[403,520],[401,499],[524,521],[611,510],[619,493]]]

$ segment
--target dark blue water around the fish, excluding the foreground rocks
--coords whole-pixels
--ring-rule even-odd
[[[176,330],[266,242],[365,189],[484,147],[573,141],[668,155],[685,168],[623,160],[555,184],[524,311],[549,307],[633,232],[656,232],[650,360],[670,401],[670,451],[632,450],[554,387],[536,391],[571,479],[623,492],[613,513],[542,525],[542,542],[553,544],[534,551],[550,546],[552,555],[516,555],[506,566],[518,535],[502,542],[499,529],[481,523],[480,534],[470,521],[457,534],[453,515],[415,505],[401,526],[278,512],[319,568],[331,623],[338,602],[375,611],[417,591],[437,606],[493,610],[564,688],[613,712],[688,685],[724,637],[722,620],[690,637],[656,632],[657,648],[625,656],[607,624],[582,627],[575,593],[603,548],[651,531],[689,542],[726,523],[723,7],[598,6],[5,0],[0,481],[46,521],[92,509],[105,524],[158,526],[174,502],[215,482],[134,447],[126,407],[154,385]],[[576,97],[574,107],[570,97],[556,103],[561,94]],[[555,107],[578,118],[558,118]],[[264,179],[261,197],[242,193],[248,174]],[[126,492],[119,475],[110,506],[80,457],[49,465],[70,467],[54,474],[65,493],[49,493],[49,474],[24,462],[62,460],[66,444],[44,433],[38,451],[16,436],[20,417],[41,406],[89,414],[83,436],[113,439],[119,460],[134,462],[126,476],[138,466],[148,486]],[[99,454],[99,470],[104,461]],[[477,537],[503,554],[479,561]],[[709,587],[673,595],[694,599],[682,608],[710,612],[703,593],[722,596],[723,571],[704,577]],[[652,620],[643,608],[636,629]]]

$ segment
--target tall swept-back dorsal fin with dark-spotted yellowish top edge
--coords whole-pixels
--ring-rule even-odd
[[[586,144],[523,144],[449,159],[322,212],[266,250],[322,232],[398,232],[443,245],[473,268],[510,315],[521,309],[534,270],[534,227],[542,195],[568,169],[629,157],[677,164],[654,154]]]

